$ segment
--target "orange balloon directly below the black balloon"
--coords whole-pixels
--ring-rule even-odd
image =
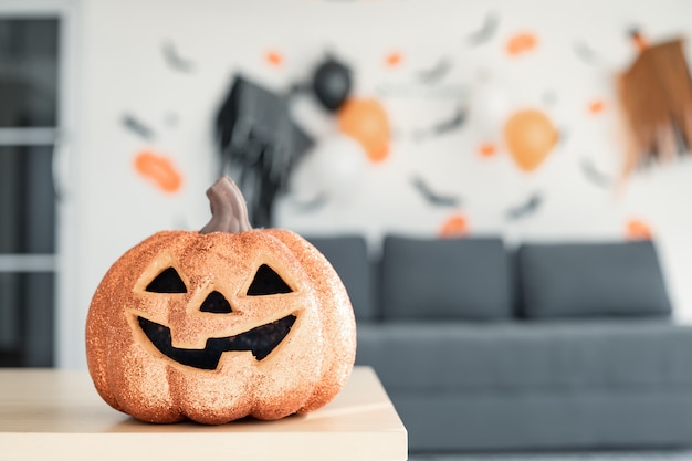
[[[356,139],[371,161],[382,161],[389,156],[389,117],[375,99],[347,99],[338,111],[342,133]]]

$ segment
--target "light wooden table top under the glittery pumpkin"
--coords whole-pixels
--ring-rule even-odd
[[[369,367],[313,413],[222,426],[137,421],[106,405],[86,370],[0,369],[3,461],[392,461],[407,451],[406,428]]]

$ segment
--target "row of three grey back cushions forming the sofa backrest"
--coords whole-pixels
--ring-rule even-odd
[[[332,263],[358,322],[669,316],[652,241],[523,243],[497,237],[307,237]]]

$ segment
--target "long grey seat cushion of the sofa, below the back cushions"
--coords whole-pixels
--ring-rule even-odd
[[[692,387],[690,350],[662,318],[389,322],[358,327],[356,364],[392,392],[646,391]]]

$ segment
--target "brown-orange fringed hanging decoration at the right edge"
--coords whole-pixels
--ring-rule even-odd
[[[682,40],[643,48],[618,84],[627,137],[626,176],[689,150],[692,83]]]

